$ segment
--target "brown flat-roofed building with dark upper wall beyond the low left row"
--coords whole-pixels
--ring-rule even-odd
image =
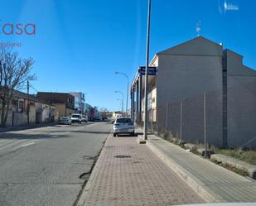
[[[51,103],[59,110],[59,115],[70,116],[75,113],[75,97],[70,93],[45,93],[39,92],[36,98]]]

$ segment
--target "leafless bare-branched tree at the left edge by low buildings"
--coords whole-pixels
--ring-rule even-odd
[[[28,80],[36,79],[36,75],[31,74],[34,63],[32,58],[22,59],[17,52],[7,50],[5,47],[0,48],[1,127],[6,126],[14,90],[22,89]]]

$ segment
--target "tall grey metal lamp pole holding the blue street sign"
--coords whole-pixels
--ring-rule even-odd
[[[147,10],[147,48],[146,48],[146,71],[145,71],[145,94],[144,94],[144,140],[147,140],[147,68],[148,68],[148,56],[149,56],[149,38],[150,38],[150,15],[151,15],[151,0],[148,0]]]

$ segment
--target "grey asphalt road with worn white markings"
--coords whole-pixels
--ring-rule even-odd
[[[75,204],[111,127],[94,122],[1,132],[0,205]]]

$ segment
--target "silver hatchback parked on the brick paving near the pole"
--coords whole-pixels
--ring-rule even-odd
[[[113,126],[113,135],[114,137],[119,134],[129,134],[131,136],[135,136],[135,127],[131,118],[128,117],[120,117],[114,121]]]

